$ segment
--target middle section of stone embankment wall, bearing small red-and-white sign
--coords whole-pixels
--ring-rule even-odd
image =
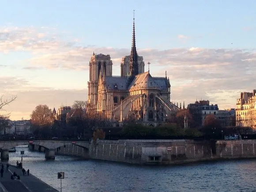
[[[175,164],[212,157],[209,141],[100,140],[90,145],[90,158],[136,164]]]

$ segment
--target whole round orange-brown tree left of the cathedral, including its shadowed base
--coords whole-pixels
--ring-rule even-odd
[[[54,117],[47,105],[38,105],[31,113],[32,131],[40,136],[49,136]]]

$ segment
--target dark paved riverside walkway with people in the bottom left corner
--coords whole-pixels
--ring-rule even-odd
[[[1,164],[0,164],[1,166]],[[11,180],[11,175],[16,172],[20,176],[20,180]],[[34,175],[23,176],[22,169],[15,166],[9,166],[9,171],[6,172],[4,164],[4,174],[0,177],[0,192],[58,192],[45,182],[41,181]]]

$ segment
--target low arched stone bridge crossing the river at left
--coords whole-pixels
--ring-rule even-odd
[[[9,150],[19,145],[31,145],[33,149],[35,145],[45,148],[45,158],[55,159],[55,149],[68,144],[83,147],[86,151],[89,150],[90,143],[87,141],[0,141],[0,159],[9,159]]]

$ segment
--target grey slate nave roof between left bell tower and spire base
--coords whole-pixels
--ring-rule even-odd
[[[106,89],[110,90],[127,90],[127,77],[105,76]]]

